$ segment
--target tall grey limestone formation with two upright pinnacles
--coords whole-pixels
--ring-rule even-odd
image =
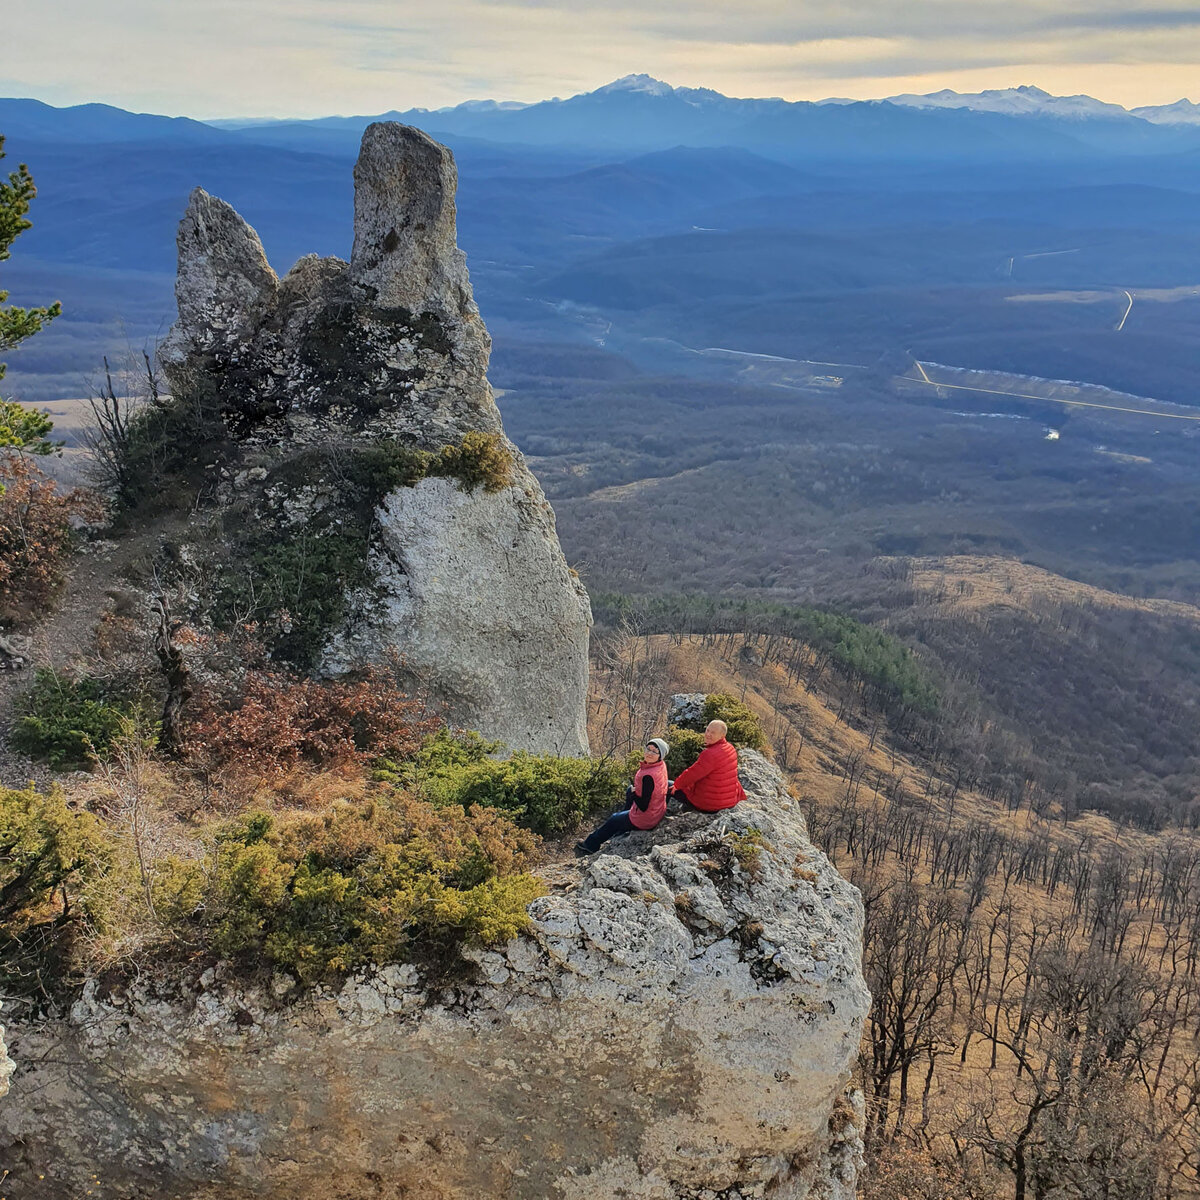
[[[454,722],[510,748],[586,752],[590,607],[503,436],[455,242],[454,158],[376,124],[354,182],[350,262],[308,256],[282,280],[228,204],[192,193],[162,358],[176,402],[216,414],[234,446],[210,540],[236,547],[250,522],[272,563],[306,538],[324,554],[346,602],[306,666],[340,673],[395,653]],[[510,460],[497,486],[414,467],[472,434]]]

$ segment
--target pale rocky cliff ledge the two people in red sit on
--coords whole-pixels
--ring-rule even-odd
[[[209,971],[12,1024],[7,1194],[852,1200],[862,904],[779,772],[743,781],[556,869],[469,983]]]

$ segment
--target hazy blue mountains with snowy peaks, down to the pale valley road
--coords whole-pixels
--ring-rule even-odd
[[[502,350],[602,344],[643,370],[668,343],[850,362],[912,350],[1194,403],[1194,107],[1134,114],[1033,88],[790,103],[634,76],[380,115],[455,150],[460,236]],[[102,354],[166,330],[197,184],[280,270],[348,254],[348,164],[373,119],[0,100],[10,161],[41,193],[4,284],[66,308],[11,355],[10,385],[78,395]]]

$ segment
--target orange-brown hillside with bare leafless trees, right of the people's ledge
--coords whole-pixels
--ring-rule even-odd
[[[647,736],[674,688],[731,692],[862,889],[864,1198],[1200,1194],[1194,830],[980,788],[898,737],[862,670],[820,643],[618,631],[600,647],[594,740]]]

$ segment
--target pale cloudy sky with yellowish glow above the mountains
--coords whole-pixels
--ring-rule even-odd
[[[0,95],[197,118],[545,100],[646,72],[731,96],[1036,84],[1200,101],[1196,0],[41,0]]]

